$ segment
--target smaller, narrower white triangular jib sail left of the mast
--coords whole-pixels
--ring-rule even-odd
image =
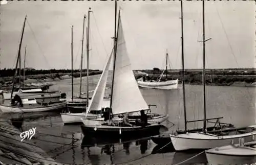
[[[113,50],[110,54],[108,62],[106,63],[106,65],[103,69],[103,72],[100,76],[99,82],[95,88],[95,91],[94,91],[93,97],[92,97],[92,101],[89,104],[87,112],[90,112],[91,110],[101,110],[103,97],[104,97],[104,93],[105,93],[106,81],[107,81],[108,75],[109,75],[109,67],[110,67],[112,55],[113,55]]]

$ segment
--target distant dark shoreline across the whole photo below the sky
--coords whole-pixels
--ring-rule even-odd
[[[74,78],[80,77],[80,72],[78,72],[78,70],[74,70],[74,71],[76,72],[73,73],[73,77]],[[42,71],[35,70],[34,72],[40,73]],[[0,74],[1,73],[2,72],[0,72]],[[148,76],[152,80],[156,81],[162,73],[163,73],[163,70],[160,70],[158,68],[147,69],[147,70],[134,70],[134,75],[136,79],[142,78],[144,75],[148,74]],[[89,71],[89,76],[100,75],[100,74],[102,74],[102,70]],[[87,72],[84,72],[83,70],[82,77],[84,76],[87,76]],[[24,82],[25,83],[54,82],[57,80],[70,79],[70,78],[71,78],[71,73],[33,74],[33,75],[26,75],[26,80]],[[13,76],[0,77],[0,89],[10,88],[12,86],[12,79],[13,79]],[[182,83],[182,71],[180,69],[168,70],[167,79],[168,80],[178,79],[179,83]],[[22,77],[22,81],[23,81],[23,77]],[[16,83],[17,82],[18,82],[18,78],[16,79]],[[185,84],[202,85],[202,71],[200,69],[186,69]],[[206,85],[256,87],[255,68],[207,69]]]

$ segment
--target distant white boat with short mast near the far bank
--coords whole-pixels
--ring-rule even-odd
[[[177,89],[178,88],[178,82],[179,80],[167,80],[167,76],[168,76],[168,53],[166,52],[166,64],[165,64],[165,70],[163,70],[159,80],[157,82],[153,82],[153,81],[146,81],[145,76],[143,76],[143,81],[138,80],[137,83],[139,85],[139,87],[141,88],[150,88],[150,89]],[[165,71],[165,79],[167,81],[161,81],[162,77],[164,75],[164,71]]]

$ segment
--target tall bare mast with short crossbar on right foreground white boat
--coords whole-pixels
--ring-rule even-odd
[[[204,0],[203,0],[203,88],[204,88],[204,125],[203,132],[206,133],[206,100],[205,100],[205,27],[204,27]]]

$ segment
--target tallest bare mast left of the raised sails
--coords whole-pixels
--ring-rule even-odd
[[[90,41],[90,37],[89,37],[89,35],[90,35],[90,11],[91,10],[91,8],[89,8],[89,10],[88,10],[88,26],[87,26],[87,74],[86,74],[86,76],[87,76],[87,90],[86,90],[86,95],[87,95],[87,97],[86,97],[86,101],[87,101],[87,104],[86,104],[86,106],[88,107],[89,106],[89,41]]]

